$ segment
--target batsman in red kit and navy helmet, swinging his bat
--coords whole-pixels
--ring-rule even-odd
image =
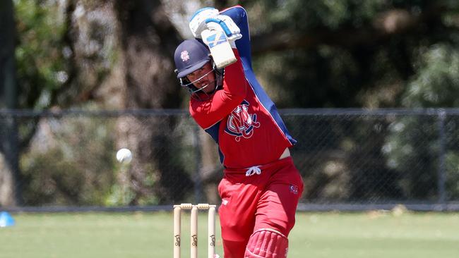
[[[203,8],[189,26],[195,38],[179,44],[174,61],[191,93],[191,116],[217,142],[224,166],[218,213],[225,258],[287,257],[303,182],[289,151],[296,141],[251,67],[247,13]],[[204,30],[217,33],[201,39]],[[213,49],[222,33],[229,51]],[[215,61],[232,57],[224,68]]]

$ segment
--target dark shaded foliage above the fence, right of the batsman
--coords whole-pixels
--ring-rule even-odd
[[[458,44],[451,1],[248,2],[256,68],[283,107],[400,107],[419,53]]]

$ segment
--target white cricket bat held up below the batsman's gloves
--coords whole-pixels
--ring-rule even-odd
[[[224,68],[237,61],[227,36],[222,30],[203,30],[201,38],[208,45],[217,68]]]

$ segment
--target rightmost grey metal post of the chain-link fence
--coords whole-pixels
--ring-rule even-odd
[[[445,118],[446,111],[444,109],[439,109],[439,171],[438,171],[438,190],[439,190],[439,204],[444,204],[446,202],[446,192],[445,192]],[[442,208],[443,209],[443,205]]]

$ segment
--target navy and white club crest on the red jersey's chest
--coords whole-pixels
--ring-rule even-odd
[[[225,132],[234,135],[234,139],[239,142],[241,137],[247,139],[254,135],[254,128],[258,127],[260,123],[256,121],[256,114],[249,113],[249,102],[244,100],[229,113]]]

